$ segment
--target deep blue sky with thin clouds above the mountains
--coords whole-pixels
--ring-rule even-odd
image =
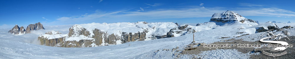
[[[116,22],[208,22],[227,10],[247,19],[295,22],[294,0],[31,0],[0,1],[0,28]]]

